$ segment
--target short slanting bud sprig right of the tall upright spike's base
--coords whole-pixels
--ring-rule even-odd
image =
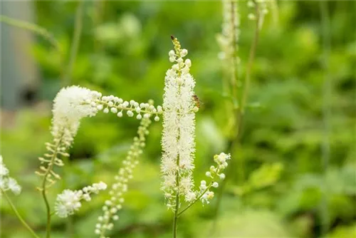
[[[201,202],[204,204],[209,204],[209,201],[214,197],[214,192],[210,191],[211,187],[219,187],[219,182],[216,180],[224,180],[225,175],[222,173],[224,169],[226,169],[228,163],[227,160],[230,160],[231,156],[226,155],[224,152],[221,152],[219,155],[214,155],[214,162],[216,165],[211,165],[209,171],[206,171],[206,177],[211,178],[211,182],[209,185],[206,185],[205,180],[201,180],[198,197],[200,197]]]

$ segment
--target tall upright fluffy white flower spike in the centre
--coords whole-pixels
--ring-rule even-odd
[[[162,190],[167,207],[176,207],[176,196],[187,202],[196,198],[192,171],[195,152],[194,78],[189,69],[192,63],[184,61],[188,51],[182,49],[177,38],[172,37],[174,51],[169,51],[169,61],[174,63],[164,78],[163,134],[162,134]],[[179,206],[179,205],[178,205]]]

